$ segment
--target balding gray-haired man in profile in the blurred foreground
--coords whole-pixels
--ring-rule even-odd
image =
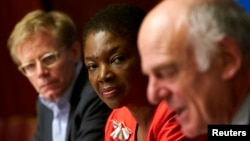
[[[211,124],[249,125],[249,33],[250,18],[234,0],[159,3],[138,37],[149,101],[166,100],[190,138]]]

